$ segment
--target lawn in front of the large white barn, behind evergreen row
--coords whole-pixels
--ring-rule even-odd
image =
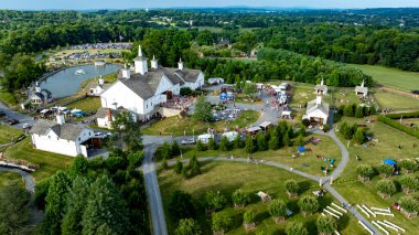
[[[183,136],[186,130],[186,136],[192,136],[193,131],[195,136],[197,136],[207,132],[208,127],[215,128],[217,131],[224,131],[226,127],[247,127],[248,125],[255,124],[260,114],[258,111],[245,110],[233,121],[221,120],[215,122],[203,122],[193,117],[180,118],[174,116],[152,124],[144,128],[142,133],[158,136],[161,132],[162,135]]]

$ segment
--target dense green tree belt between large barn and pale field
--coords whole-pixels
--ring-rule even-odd
[[[318,84],[324,78],[331,86],[355,86],[363,79],[367,86],[373,85],[372,77],[357,68],[286,50],[262,49],[258,61],[207,58],[196,61],[193,66],[200,67],[207,77],[225,77],[226,83],[286,79]]]

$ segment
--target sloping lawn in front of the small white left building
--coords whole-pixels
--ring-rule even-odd
[[[35,150],[32,148],[31,138],[25,138],[17,145],[7,148],[4,156],[39,164],[40,168],[32,173],[36,181],[54,174],[57,170],[67,169],[74,159],[57,153]]]

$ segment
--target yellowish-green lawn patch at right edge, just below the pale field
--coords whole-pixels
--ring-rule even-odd
[[[394,93],[377,92],[374,94],[382,108],[400,109],[419,109],[419,99],[402,96]]]

